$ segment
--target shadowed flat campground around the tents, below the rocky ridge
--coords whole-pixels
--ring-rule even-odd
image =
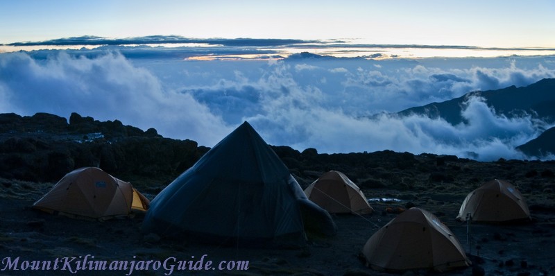
[[[29,207],[54,183],[0,180],[0,252],[1,257],[20,257],[20,260],[53,260],[56,257],[84,257],[96,260],[139,261],[160,260],[168,257],[215,264],[219,261],[249,261],[246,271],[173,271],[172,275],[388,275],[366,268],[359,252],[366,240],[396,216],[385,212],[387,207],[415,205],[433,212],[456,234],[469,250],[466,224],[454,220],[464,197],[483,180],[508,179],[522,191],[530,206],[533,223],[525,225],[471,225],[472,255],[479,255],[474,264],[484,268],[486,275],[553,275],[555,273],[555,187],[549,171],[549,162],[504,161],[481,163],[453,159],[437,162],[435,156],[416,156],[418,166],[398,169],[379,166],[368,169],[368,175],[353,178],[363,183],[368,198],[398,198],[398,202],[372,201],[374,214],[366,216],[334,216],[339,230],[334,238],[310,236],[305,248],[275,250],[229,248],[201,245],[191,241],[159,240],[157,236],[144,236],[140,232],[144,215],[135,218],[105,222],[81,221],[36,212]],[[384,159],[385,160],[385,159]],[[422,166],[443,167],[449,178],[436,181],[434,174]],[[420,166],[420,169],[419,169]],[[324,171],[302,171],[301,185],[316,179]],[[348,176],[357,173],[345,172]],[[301,173],[300,173],[301,174]],[[310,176],[312,175],[312,176]],[[117,176],[117,175],[116,175]],[[437,176],[437,178],[441,178]],[[153,198],[152,191],[164,185],[137,178],[139,190]],[[443,181],[443,182],[442,182]],[[370,188],[374,186],[374,188]],[[89,257],[90,259],[91,257]],[[2,265],[4,268],[6,265]],[[0,268],[0,269],[1,269]],[[75,275],[127,275],[129,270],[94,272],[78,270]],[[132,275],[164,275],[168,270],[135,271]],[[58,271],[0,271],[0,275],[70,275]],[[426,275],[424,270],[409,271],[405,275]],[[472,268],[456,270],[445,275],[472,275]]]

